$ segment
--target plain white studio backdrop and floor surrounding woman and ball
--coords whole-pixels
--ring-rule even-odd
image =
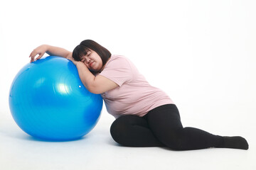
[[[255,169],[255,8],[253,0],[1,1],[0,169]],[[38,45],[73,50],[85,39],[129,57],[173,99],[184,126],[241,135],[250,149],[119,147],[105,108],[82,140],[32,140],[11,118],[11,81]]]

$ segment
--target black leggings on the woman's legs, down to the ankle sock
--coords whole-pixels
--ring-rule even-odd
[[[223,145],[223,137],[196,128],[183,128],[174,104],[159,106],[144,117],[122,115],[110,128],[113,139],[127,147],[205,149]]]

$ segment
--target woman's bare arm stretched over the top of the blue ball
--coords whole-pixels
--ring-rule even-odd
[[[29,55],[29,57],[31,57],[31,62],[35,61],[36,55],[38,55],[38,57],[36,57],[36,60],[41,59],[44,53],[47,53],[48,55],[56,55],[64,58],[72,57],[72,52],[65,50],[64,48],[54,47],[51,45],[40,45],[39,47],[36,47],[36,49],[33,50],[33,52],[31,52],[31,55]]]

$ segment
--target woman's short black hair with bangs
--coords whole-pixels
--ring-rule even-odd
[[[87,55],[87,52],[93,50],[97,52],[98,55],[100,55],[100,58],[102,59],[102,65],[105,65],[107,63],[107,60],[111,57],[111,53],[109,50],[107,50],[105,47],[102,47],[102,45],[98,44],[94,40],[83,40],[80,42],[80,45],[76,46],[73,50],[72,57],[76,61],[82,60],[82,56]]]

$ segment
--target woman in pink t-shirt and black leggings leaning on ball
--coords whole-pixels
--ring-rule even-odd
[[[82,84],[101,94],[107,111],[114,115],[110,132],[120,145],[129,147],[169,147],[176,150],[209,147],[248,149],[243,137],[222,137],[196,128],[183,128],[178,108],[164,91],[139,74],[126,57],[112,55],[93,40],[84,40],[69,52],[41,45],[31,52],[31,62],[43,54],[71,60],[78,68]]]

